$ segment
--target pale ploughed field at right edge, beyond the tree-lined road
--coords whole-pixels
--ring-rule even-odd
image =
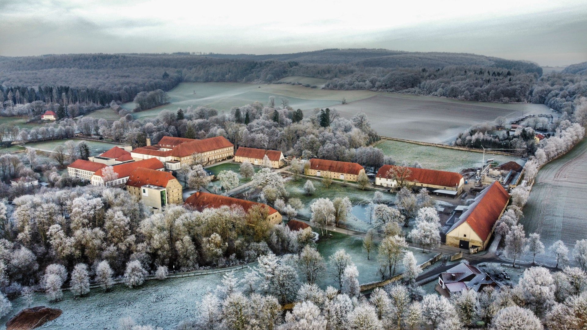
[[[587,238],[587,139],[571,151],[546,164],[524,207],[527,234],[539,233],[548,247],[557,240],[573,247]]]

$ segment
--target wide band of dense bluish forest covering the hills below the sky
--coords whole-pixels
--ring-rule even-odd
[[[308,76],[328,79],[326,89],[544,103],[569,112],[577,96],[587,95],[585,70],[586,64],[579,63],[542,75],[536,63],[521,60],[385,49],[281,55],[70,54],[0,57],[0,89],[2,103],[9,105],[35,100],[106,105],[129,102],[140,92],[167,91],[180,82],[271,83]]]

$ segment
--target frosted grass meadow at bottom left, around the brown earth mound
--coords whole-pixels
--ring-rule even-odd
[[[237,270],[242,278],[246,271]],[[174,329],[178,322],[190,318],[208,289],[220,284],[222,274],[194,277],[170,278],[165,281],[147,281],[142,287],[129,289],[122,284],[114,285],[110,292],[92,289],[90,294],[75,299],[71,292],[63,292],[59,302],[49,302],[45,295],[35,294],[32,306],[47,306],[62,309],[63,314],[39,329],[119,329],[118,319],[131,316],[138,324]],[[12,312],[0,319],[5,324],[21,309],[26,308],[22,298],[12,301]]]

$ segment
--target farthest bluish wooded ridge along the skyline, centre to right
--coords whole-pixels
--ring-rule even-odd
[[[295,61],[313,64],[352,64],[369,68],[442,68],[449,65],[473,65],[536,72],[542,75],[542,68],[536,63],[468,53],[423,53],[387,49],[323,49],[313,52],[278,55],[208,54],[205,56],[226,59]]]

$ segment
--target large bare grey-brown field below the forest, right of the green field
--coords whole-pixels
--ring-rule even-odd
[[[347,100],[349,101],[349,100]],[[514,119],[528,113],[551,113],[545,105],[465,102],[437,97],[377,95],[336,106],[346,118],[365,112],[382,136],[448,143],[477,123],[499,116]]]

